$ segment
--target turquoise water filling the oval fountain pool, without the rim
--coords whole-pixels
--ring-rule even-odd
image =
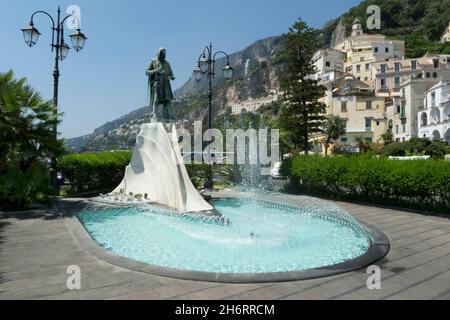
[[[161,209],[91,207],[78,218],[107,250],[152,265],[202,272],[299,271],[357,258],[371,245],[350,216],[264,201],[217,200],[229,223]]]

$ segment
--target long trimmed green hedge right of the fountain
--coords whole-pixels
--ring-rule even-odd
[[[450,162],[296,156],[282,170],[294,192],[450,213]]]

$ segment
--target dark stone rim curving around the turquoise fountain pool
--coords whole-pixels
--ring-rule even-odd
[[[242,197],[214,197],[214,199],[221,198],[242,198]],[[273,200],[276,202],[276,200]],[[85,200],[78,201],[78,203],[91,203]],[[72,238],[78,246],[89,253],[90,255],[110,263],[112,265],[146,273],[154,276],[161,276],[167,278],[174,278],[179,280],[203,281],[214,283],[234,283],[234,284],[252,284],[252,283],[272,283],[272,282],[290,282],[311,280],[317,278],[330,277],[338,274],[348,273],[351,271],[361,270],[386,257],[390,251],[390,241],[387,236],[374,226],[356,219],[372,236],[372,245],[369,250],[362,256],[332,266],[326,266],[316,269],[307,269],[291,272],[273,272],[273,273],[257,273],[257,274],[232,274],[232,273],[216,273],[216,272],[200,272],[179,270],[173,268],[166,268],[157,265],[151,265],[140,261],[135,261],[123,256],[107,251],[102,246],[98,245],[91,235],[84,228],[82,223],[74,215],[71,205],[64,205],[63,208],[58,206],[65,217],[65,223]],[[73,207],[72,207],[73,208]]]

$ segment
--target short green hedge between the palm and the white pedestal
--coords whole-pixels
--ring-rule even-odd
[[[69,154],[58,161],[58,170],[70,185],[68,193],[100,191],[117,187],[123,179],[131,152]]]

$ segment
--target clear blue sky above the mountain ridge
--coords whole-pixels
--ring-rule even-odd
[[[60,132],[71,138],[146,103],[145,69],[159,47],[166,47],[176,81],[189,79],[196,59],[212,41],[218,50],[239,51],[256,40],[287,32],[298,18],[321,27],[359,0],[2,0],[0,72],[27,77],[44,98],[52,98],[54,59],[50,20],[35,18],[42,33],[28,48],[20,29],[36,10],[56,15],[81,8],[82,31],[89,38],[80,53],[71,50],[60,66]],[[69,34],[71,31],[69,32]],[[67,32],[66,32],[67,35]],[[69,39],[66,42],[70,43]]]

